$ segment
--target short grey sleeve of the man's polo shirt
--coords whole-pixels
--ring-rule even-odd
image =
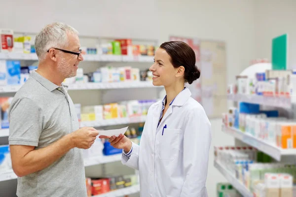
[[[13,100],[9,112],[9,145],[38,146],[42,111],[32,99]]]

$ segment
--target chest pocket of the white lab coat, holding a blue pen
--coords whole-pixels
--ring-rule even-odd
[[[174,160],[178,156],[180,132],[180,129],[163,130],[159,140],[159,159]]]

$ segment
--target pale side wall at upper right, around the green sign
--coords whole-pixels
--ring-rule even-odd
[[[255,52],[258,58],[271,60],[272,38],[288,33],[289,68],[296,68],[296,1],[255,1]]]

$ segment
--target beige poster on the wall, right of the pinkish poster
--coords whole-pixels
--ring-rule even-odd
[[[227,111],[225,43],[201,40],[200,54],[202,105],[208,117],[221,117]]]

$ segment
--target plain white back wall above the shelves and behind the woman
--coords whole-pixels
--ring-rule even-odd
[[[254,0],[0,1],[5,7],[0,28],[17,32],[36,33],[47,23],[62,21],[81,35],[159,39],[160,43],[169,35],[225,41],[228,83],[256,57]],[[234,139],[221,132],[220,119],[211,123],[207,188],[209,197],[215,197],[216,183],[225,179],[213,166],[213,145],[233,145]]]

